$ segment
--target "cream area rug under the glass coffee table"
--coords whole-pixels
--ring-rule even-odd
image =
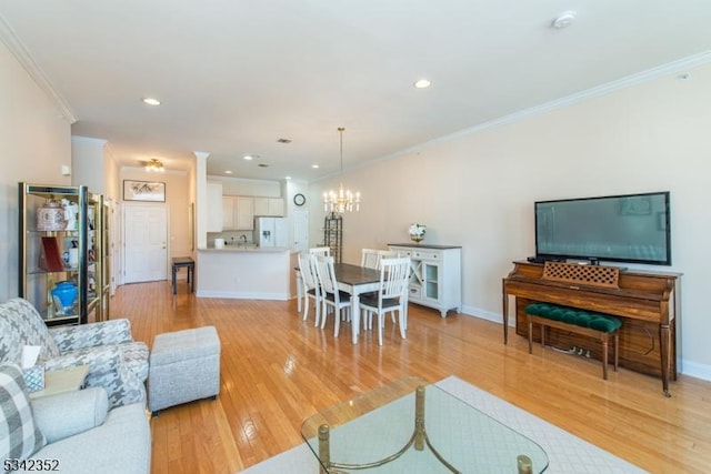
[[[548,454],[549,465],[545,473],[644,472],[633,464],[455,376],[447,377],[438,382],[437,385],[538,443]],[[248,474],[316,474],[318,472],[319,464],[306,443],[243,471]]]

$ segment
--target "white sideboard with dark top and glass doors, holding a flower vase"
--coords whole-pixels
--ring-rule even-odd
[[[390,250],[410,256],[409,302],[439,310],[462,307],[462,249],[452,245],[391,243]]]

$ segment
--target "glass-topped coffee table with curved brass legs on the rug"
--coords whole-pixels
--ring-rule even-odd
[[[307,418],[321,473],[540,473],[528,437],[419,377],[390,383]]]

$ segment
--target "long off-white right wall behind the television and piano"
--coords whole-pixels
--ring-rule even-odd
[[[364,246],[407,242],[410,223],[424,223],[425,243],[462,245],[465,312],[501,321],[501,278],[534,253],[534,201],[669,190],[673,265],[649,269],[684,273],[683,372],[711,379],[711,65],[689,72],[347,173],[362,203],[343,220],[344,261],[358,262]],[[310,186],[313,235],[324,215],[319,196],[336,184]]]

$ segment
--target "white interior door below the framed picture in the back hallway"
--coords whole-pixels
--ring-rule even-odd
[[[123,209],[124,283],[168,279],[166,205],[126,204]]]

